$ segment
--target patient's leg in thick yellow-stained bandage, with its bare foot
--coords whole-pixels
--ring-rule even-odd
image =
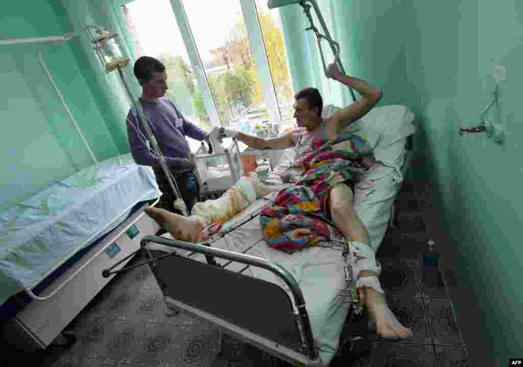
[[[242,177],[220,198],[196,203],[192,207],[190,217],[154,207],[145,209],[145,212],[173,238],[187,242],[200,242],[205,236],[204,229],[214,224],[224,223],[241,213],[257,198],[270,193],[270,190],[255,178],[255,175]]]

